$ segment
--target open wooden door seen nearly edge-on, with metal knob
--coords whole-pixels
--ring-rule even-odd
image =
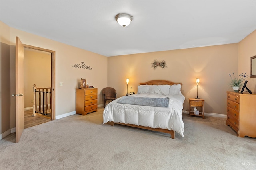
[[[24,46],[19,37],[16,37],[16,59],[15,59],[15,86],[16,86],[16,143],[20,141],[20,137],[24,130]]]

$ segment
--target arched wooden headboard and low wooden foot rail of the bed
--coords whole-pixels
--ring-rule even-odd
[[[140,83],[140,85],[174,85],[174,84],[180,84],[182,83],[174,83],[166,80],[151,80],[145,83]],[[140,129],[147,129],[150,131],[158,131],[158,132],[163,132],[163,133],[169,133],[171,135],[172,139],[175,139],[175,131],[174,130],[168,130],[168,129],[161,129],[161,128],[151,128],[151,127],[145,127],[145,126],[137,126],[137,125],[132,125],[132,124],[125,124],[125,123],[114,123],[113,121],[110,122],[110,125],[114,126],[114,124],[119,124],[119,125],[126,125],[130,127],[137,127]]]

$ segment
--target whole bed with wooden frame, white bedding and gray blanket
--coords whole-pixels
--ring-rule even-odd
[[[137,94],[117,98],[105,107],[103,123],[169,133],[172,139],[175,132],[184,137],[182,109],[185,97],[180,91],[181,85],[166,80],[140,83]]]

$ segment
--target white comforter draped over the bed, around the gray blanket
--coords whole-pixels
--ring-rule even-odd
[[[169,94],[164,96],[160,94],[140,93],[131,96],[152,98],[169,97],[169,107],[120,104],[117,103],[120,98],[117,98],[105,107],[103,111],[103,123],[114,121],[152,128],[172,129],[184,137],[182,109],[185,97],[182,94]]]

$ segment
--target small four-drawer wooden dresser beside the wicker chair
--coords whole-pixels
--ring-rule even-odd
[[[76,114],[86,115],[98,108],[98,88],[76,89]]]

